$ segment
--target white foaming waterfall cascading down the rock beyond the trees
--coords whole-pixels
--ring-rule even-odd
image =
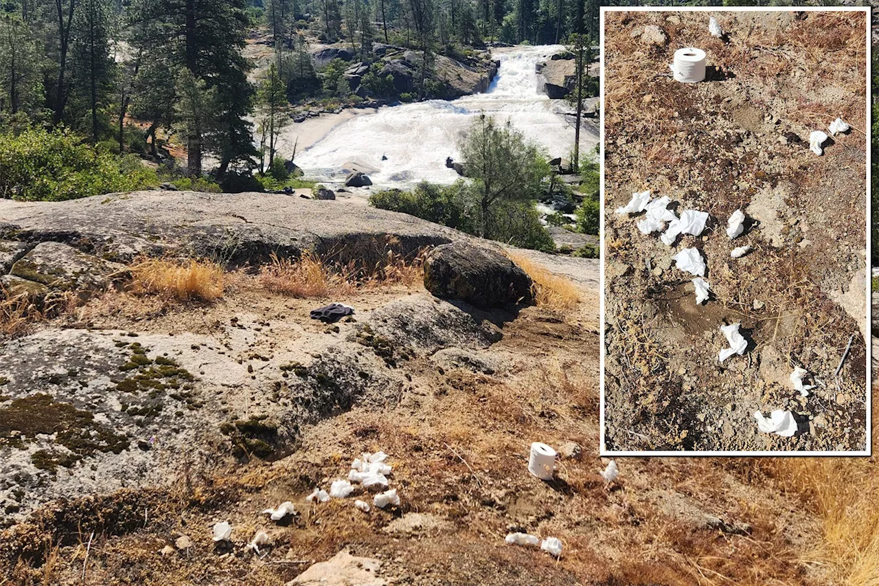
[[[574,128],[556,112],[560,105],[538,90],[539,76],[534,71],[536,63],[561,49],[539,46],[499,53],[500,68],[488,92],[452,101],[433,99],[388,106],[375,114],[354,116],[298,154],[295,163],[307,176],[324,181],[344,179],[345,163],[357,161],[374,169],[368,174],[376,185],[423,179],[452,183],[458,175],[446,167],[446,157],[458,157],[458,142],[481,113],[498,122],[511,121],[547,155],[567,157],[573,147]],[[597,135],[581,132],[580,136],[582,150],[598,142]],[[382,160],[382,156],[387,158]]]

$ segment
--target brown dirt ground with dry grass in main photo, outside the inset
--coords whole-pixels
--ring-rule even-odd
[[[213,468],[193,467],[168,486],[53,503],[0,533],[0,583],[274,585],[342,550],[378,560],[376,583],[836,583],[831,565],[810,561],[818,517],[759,462],[622,458],[620,478],[606,487],[599,471],[607,460],[596,450],[598,304],[594,285],[582,293],[573,311],[528,308],[507,321],[503,340],[483,354],[496,369],[410,360],[402,368],[412,385],[399,400],[309,426],[283,458],[241,464],[218,446]],[[369,311],[423,294],[395,286],[342,301]],[[143,335],[219,336],[219,324],[255,313],[260,319],[240,335],[265,354],[273,350],[265,327],[275,336],[299,331],[304,343],[352,326],[333,333],[302,322],[297,316],[314,305],[242,287],[210,306],[103,299],[80,319]],[[535,440],[563,454],[553,481],[527,473]],[[355,509],[353,499],[368,494],[305,502],[374,450],[390,455],[399,507]],[[287,500],[298,511],[291,522],[260,515]],[[215,546],[211,527],[223,520],[233,525],[232,542]],[[256,531],[272,541],[258,555],[245,548]],[[506,545],[510,531],[560,538],[563,555]],[[193,546],[159,553],[184,535]]]

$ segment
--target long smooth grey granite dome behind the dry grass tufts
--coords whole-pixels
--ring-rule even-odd
[[[114,262],[173,254],[241,266],[265,262],[272,253],[344,250],[351,253],[345,262],[362,257],[374,263],[387,253],[384,238],[390,236],[390,248],[407,256],[428,245],[475,241],[405,214],[360,206],[339,213],[323,201],[284,194],[142,191],[72,201],[0,200],[0,239],[28,248],[58,242]]]

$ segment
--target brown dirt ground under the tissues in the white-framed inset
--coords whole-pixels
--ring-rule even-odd
[[[865,449],[865,26],[862,12],[608,13],[608,450]],[[703,83],[671,77],[689,46],[707,54]],[[852,128],[818,157],[810,132],[838,116]],[[707,211],[706,230],[666,246],[614,213],[646,189],[678,213]],[[745,232],[730,240],[737,209]],[[685,247],[707,265],[698,306],[672,260]],[[732,323],[748,348],[719,363]],[[795,436],[759,432],[752,414],[775,409],[794,414]]]

